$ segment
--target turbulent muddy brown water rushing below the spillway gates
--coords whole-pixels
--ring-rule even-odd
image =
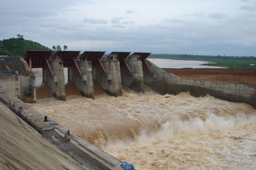
[[[110,97],[97,93],[99,84],[93,100],[68,87],[67,101],[29,105],[136,169],[256,169],[256,111],[248,104],[124,86],[122,97]]]

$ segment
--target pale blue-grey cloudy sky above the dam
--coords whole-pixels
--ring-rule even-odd
[[[0,0],[0,40],[52,49],[256,56],[256,0]]]

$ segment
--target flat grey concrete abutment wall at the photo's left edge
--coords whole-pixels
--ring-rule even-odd
[[[20,98],[20,78],[19,77],[0,77],[0,89]]]

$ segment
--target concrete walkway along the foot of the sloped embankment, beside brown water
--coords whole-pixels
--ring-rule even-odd
[[[84,169],[122,169],[120,167],[122,164],[120,160],[117,160],[72,132],[70,132],[71,140],[69,142],[65,141],[64,134],[67,129],[58,124],[49,125],[51,120],[44,121],[45,114],[36,111],[18,98],[12,97],[9,93],[0,91],[0,102],[9,107],[10,110],[15,112],[15,114],[35,128],[40,134],[44,135],[57,148],[76,160]],[[14,107],[10,105],[10,102],[14,104]],[[19,106],[22,107],[23,111],[19,111]]]

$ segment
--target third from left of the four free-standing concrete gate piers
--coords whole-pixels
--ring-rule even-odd
[[[114,97],[122,96],[119,61],[106,60],[101,62],[107,72],[107,76],[102,75],[97,68],[93,68],[93,80],[99,82],[108,95]]]

